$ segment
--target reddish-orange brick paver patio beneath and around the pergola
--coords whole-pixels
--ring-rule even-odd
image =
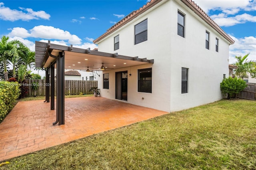
[[[104,97],[68,98],[65,125],[53,126],[50,103],[21,101],[0,124],[0,161],[166,113]]]

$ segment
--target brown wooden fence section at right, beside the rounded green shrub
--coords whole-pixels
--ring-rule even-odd
[[[247,87],[238,93],[237,97],[241,99],[256,100],[256,83],[246,83]]]

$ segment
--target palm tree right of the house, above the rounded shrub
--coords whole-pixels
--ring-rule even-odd
[[[236,56],[237,61],[233,63],[237,67],[234,70],[234,74],[239,78],[248,78],[248,73],[253,77],[255,73],[255,62],[254,60],[247,61],[247,57],[250,53],[244,55],[244,57]]]

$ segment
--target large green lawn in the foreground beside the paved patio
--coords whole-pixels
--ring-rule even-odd
[[[0,169],[255,170],[256,101],[221,100],[8,161]]]

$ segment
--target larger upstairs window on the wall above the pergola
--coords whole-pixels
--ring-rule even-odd
[[[140,22],[135,26],[134,44],[148,40],[148,19]]]

